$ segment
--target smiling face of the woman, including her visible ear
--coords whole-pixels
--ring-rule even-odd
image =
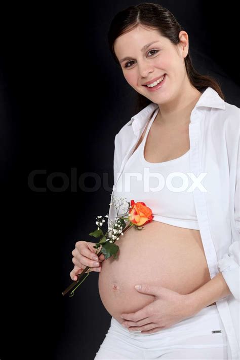
[[[188,35],[182,30],[179,38],[180,43],[175,46],[157,30],[138,25],[115,40],[115,55],[125,79],[137,92],[157,104],[174,99],[189,84],[184,63],[188,53]],[[164,74],[166,78],[162,87],[157,89],[156,86],[154,91],[149,91],[143,86]]]

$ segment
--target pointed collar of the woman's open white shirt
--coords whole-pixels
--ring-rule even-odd
[[[199,97],[197,103],[194,106],[194,109],[200,106],[215,107],[216,109],[225,110],[225,101],[218,95],[217,91],[209,86]],[[142,127],[146,124],[149,115],[157,108],[158,105],[154,102],[151,102],[131,118],[128,125],[132,125],[134,133],[142,129]]]

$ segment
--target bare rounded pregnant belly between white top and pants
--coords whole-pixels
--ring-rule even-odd
[[[211,279],[199,230],[152,221],[141,231],[130,228],[115,244],[117,259],[102,262],[98,285],[104,307],[120,323],[122,313],[154,300],[138,293],[137,283],[189,294]]]

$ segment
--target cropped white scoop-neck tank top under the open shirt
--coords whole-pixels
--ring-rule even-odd
[[[142,142],[125,164],[113,196],[126,198],[128,202],[132,199],[143,201],[151,208],[153,221],[199,230],[193,192],[187,191],[192,185],[187,174],[190,172],[190,150],[179,158],[161,163],[151,163],[144,158],[146,138],[158,110],[153,114]],[[118,213],[124,213],[123,209],[120,208]]]

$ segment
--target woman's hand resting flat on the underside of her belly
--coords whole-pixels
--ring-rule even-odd
[[[156,333],[193,315],[194,309],[188,294],[182,295],[163,286],[142,284],[139,293],[155,295],[155,300],[134,313],[123,313],[122,325],[142,334]]]

